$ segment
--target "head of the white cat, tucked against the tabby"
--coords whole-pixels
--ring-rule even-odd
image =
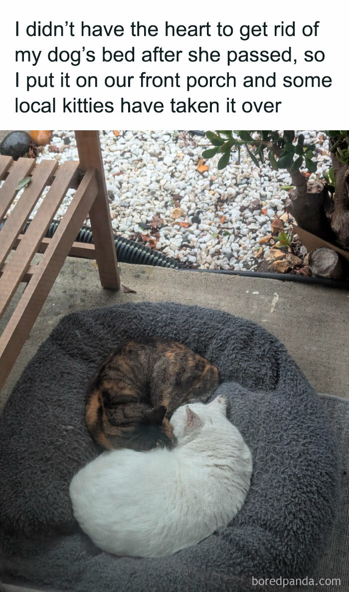
[[[190,403],[179,407],[171,417],[170,424],[177,444],[190,442],[199,433],[208,428],[219,429],[222,417],[227,416],[227,399],[223,395],[216,397],[211,403]]]

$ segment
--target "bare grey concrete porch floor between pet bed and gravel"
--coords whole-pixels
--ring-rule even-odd
[[[25,343],[0,408],[60,318],[67,313],[111,304],[173,301],[219,308],[261,324],[285,343],[318,392],[349,398],[349,291],[272,279],[245,278],[121,263],[125,294],[101,288],[96,263],[68,258]],[[11,303],[11,312],[20,294]],[[8,315],[7,315],[8,317]],[[0,332],[2,324],[0,323]]]

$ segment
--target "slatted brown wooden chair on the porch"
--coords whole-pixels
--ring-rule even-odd
[[[0,156],[0,223],[17,195],[18,183],[31,176],[11,215],[0,231],[0,318],[3,316],[20,282],[27,285],[7,326],[0,337],[0,390],[25,343],[50,289],[67,255],[96,259],[104,288],[119,289],[117,255],[109,213],[108,195],[98,131],[75,132],[79,162],[42,160],[38,165],[30,158],[13,162]],[[37,204],[44,188],[50,185],[28,230],[21,234],[25,222]],[[67,189],[75,195],[52,239],[44,239],[51,221],[62,204]],[[75,238],[89,214],[93,245],[75,243]],[[16,249],[5,263],[11,249]],[[37,265],[33,256],[44,252]]]

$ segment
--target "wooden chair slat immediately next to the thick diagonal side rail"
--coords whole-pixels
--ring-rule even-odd
[[[27,271],[31,259],[37,252],[49,224],[54,218],[57,209],[66,195],[67,188],[72,176],[79,166],[78,162],[67,160],[64,168],[60,169],[37,214],[28,227],[24,239],[18,245],[14,255],[9,261],[9,265],[0,278],[0,318],[4,314],[5,308],[21,283],[22,276]],[[10,177],[9,177],[10,178]],[[77,189],[79,191],[79,189]],[[80,192],[79,192],[80,195]],[[85,214],[86,215],[86,214]],[[82,220],[83,221],[83,220]],[[79,229],[78,229],[79,230]],[[2,232],[2,231],[1,231]],[[54,235],[56,236],[56,234]],[[73,237],[73,240],[75,237]],[[72,242],[73,242],[72,240]]]

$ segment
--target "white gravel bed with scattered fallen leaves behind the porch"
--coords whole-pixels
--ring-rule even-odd
[[[306,142],[316,143],[319,168],[312,178],[319,178],[331,166],[328,138],[321,131],[299,133]],[[271,233],[271,220],[282,216],[285,230],[289,226],[284,215],[288,191],[280,188],[290,184],[289,175],[268,165],[258,169],[244,152],[240,165],[232,155],[230,165],[220,172],[215,156],[204,163],[208,171],[200,173],[198,161],[208,141],[196,136],[201,145],[185,146],[178,136],[176,131],[120,131],[118,137],[113,131],[101,132],[115,232],[127,238],[142,235],[145,244],[199,268],[256,269],[260,247],[260,258],[269,253],[269,247],[258,241]],[[63,143],[67,137],[69,145]],[[49,152],[46,146],[38,162],[77,159],[72,131],[53,131],[51,145],[61,152]],[[72,195],[69,191],[58,218]],[[154,216],[163,221],[157,235],[147,227]]]

